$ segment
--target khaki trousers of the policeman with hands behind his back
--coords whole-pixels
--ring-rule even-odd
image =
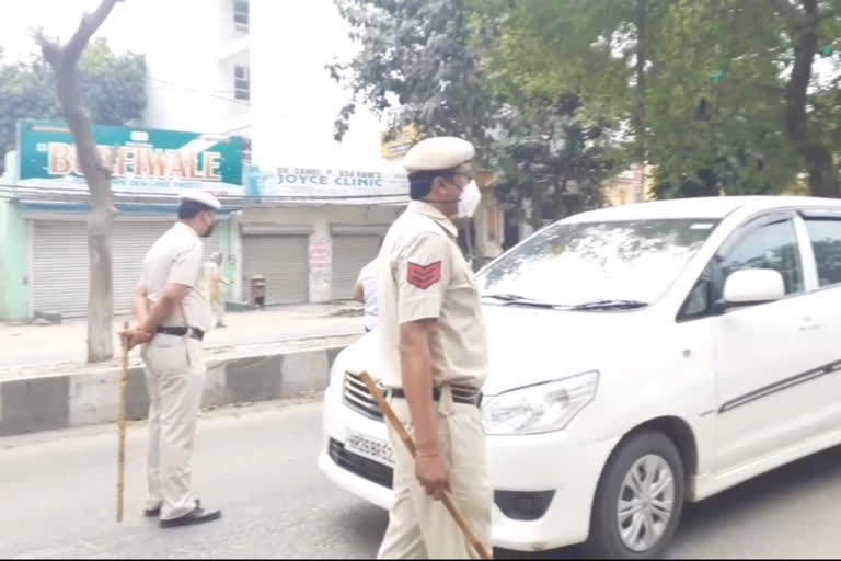
[[[161,519],[195,508],[191,456],[205,386],[201,343],[193,337],[158,334],[143,347],[149,389],[149,499]]]

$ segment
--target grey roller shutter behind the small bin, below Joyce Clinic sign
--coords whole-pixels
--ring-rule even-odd
[[[251,276],[263,275],[266,305],[309,301],[308,236],[246,234],[242,238],[242,252],[246,299]]]

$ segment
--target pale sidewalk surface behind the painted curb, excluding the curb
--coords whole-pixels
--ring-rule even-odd
[[[76,318],[58,325],[0,323],[0,380],[49,376],[67,371],[96,371],[119,367],[116,333],[129,317],[114,320],[112,360],[85,364],[87,320]],[[338,302],[295,305],[262,311],[228,312],[224,329],[210,331],[204,341],[208,358],[222,354],[252,354],[258,348],[307,348],[319,340],[353,341],[364,332],[361,305]],[[138,352],[131,365],[140,364]]]

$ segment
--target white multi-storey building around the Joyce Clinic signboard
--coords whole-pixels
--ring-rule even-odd
[[[268,305],[350,298],[407,186],[396,197],[355,188],[402,174],[399,159],[380,156],[372,114],[360,110],[345,139],[333,139],[347,94],[325,65],[353,49],[333,1],[133,1],[117,5],[107,26],[115,48],[146,56],[146,127],[243,136],[251,163],[272,172],[265,181],[287,175],[295,187],[295,197],[281,196],[281,185],[232,216],[228,298],[250,300],[254,276],[264,277]],[[346,180],[343,193],[338,174],[362,179]],[[382,188],[394,193],[393,180]]]

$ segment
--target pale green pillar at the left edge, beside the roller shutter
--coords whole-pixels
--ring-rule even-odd
[[[0,201],[0,320],[31,319],[30,222],[18,205]]]

